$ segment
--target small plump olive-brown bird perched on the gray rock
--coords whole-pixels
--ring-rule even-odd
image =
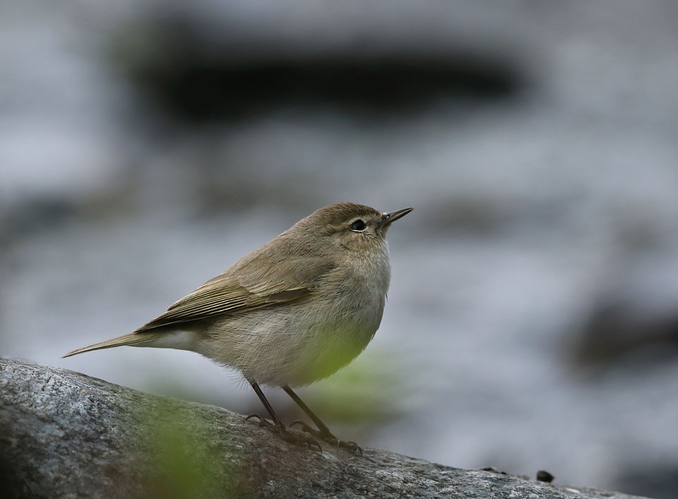
[[[192,350],[238,369],[281,434],[285,427],[259,384],[288,393],[318,427],[300,423],[304,431],[359,449],[333,436],[291,387],[333,374],[372,339],[390,282],[386,232],[410,211],[320,208],[136,331],[64,357],[123,345]]]

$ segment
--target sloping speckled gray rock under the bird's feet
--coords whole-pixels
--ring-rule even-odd
[[[0,496],[631,498],[386,450],[319,452],[221,408],[9,359],[0,359]]]

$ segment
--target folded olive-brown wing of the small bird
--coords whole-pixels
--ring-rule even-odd
[[[249,253],[135,332],[247,312],[308,296],[333,265],[320,255],[304,251],[300,254],[300,248],[285,244],[280,236],[276,239],[275,248],[271,248],[274,239]]]

